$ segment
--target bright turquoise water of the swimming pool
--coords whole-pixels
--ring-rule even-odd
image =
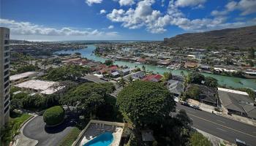
[[[113,142],[113,134],[110,132],[105,132],[103,134],[99,134],[98,137],[95,137],[91,141],[87,142],[83,146],[108,146]]]

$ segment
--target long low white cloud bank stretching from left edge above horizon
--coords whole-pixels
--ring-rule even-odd
[[[80,31],[75,28],[50,28],[39,26],[29,22],[17,22],[15,20],[0,19],[1,26],[10,28],[12,35],[39,35],[39,36],[102,36],[110,32],[98,31]],[[113,35],[113,34],[112,34]]]

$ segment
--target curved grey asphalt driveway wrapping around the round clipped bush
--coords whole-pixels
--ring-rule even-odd
[[[72,126],[67,121],[56,128],[46,128],[42,116],[38,116],[23,128],[23,134],[38,140],[37,146],[58,145],[71,129]]]

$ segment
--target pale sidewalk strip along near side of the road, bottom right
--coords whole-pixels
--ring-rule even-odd
[[[211,134],[206,133],[205,131],[200,131],[199,129],[195,128],[195,130],[197,132],[199,132],[200,134],[203,134],[204,137],[207,137],[213,146],[219,146],[220,144],[225,145],[225,146],[236,146],[235,144],[231,143],[231,142],[227,142],[224,139],[221,139],[219,137],[215,137]]]

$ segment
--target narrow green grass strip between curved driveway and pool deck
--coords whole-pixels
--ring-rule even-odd
[[[70,146],[75,142],[75,140],[78,138],[78,135],[80,134],[80,129],[77,127],[72,128],[72,130],[69,132],[69,134],[64,137],[64,139],[61,140],[59,146]]]

